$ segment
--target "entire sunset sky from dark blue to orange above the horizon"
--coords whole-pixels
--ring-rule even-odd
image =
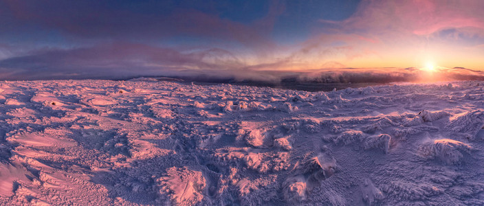
[[[0,0],[0,79],[483,70],[483,13],[480,0]]]

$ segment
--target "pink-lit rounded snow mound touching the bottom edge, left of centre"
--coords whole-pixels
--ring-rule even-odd
[[[157,184],[159,194],[168,195],[176,205],[195,205],[203,199],[206,180],[199,171],[173,167],[166,170],[166,176],[157,179]]]

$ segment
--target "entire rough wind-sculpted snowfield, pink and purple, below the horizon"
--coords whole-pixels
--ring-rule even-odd
[[[484,82],[0,82],[0,205],[484,205]]]

